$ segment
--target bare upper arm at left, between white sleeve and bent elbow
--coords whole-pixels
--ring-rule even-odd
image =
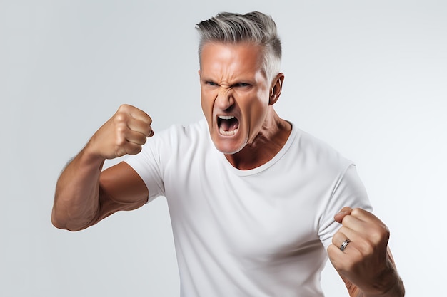
[[[120,210],[132,210],[143,206],[149,191],[143,179],[126,162],[114,165],[99,177],[98,220]]]

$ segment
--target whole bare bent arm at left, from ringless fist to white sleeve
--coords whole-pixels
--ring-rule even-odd
[[[104,171],[102,167],[106,159],[138,154],[153,134],[149,115],[121,105],[59,177],[51,214],[54,226],[78,231],[146,203],[146,185],[129,165],[121,162]]]

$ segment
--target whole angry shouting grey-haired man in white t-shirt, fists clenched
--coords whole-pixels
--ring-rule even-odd
[[[327,257],[350,296],[403,296],[355,167],[273,109],[273,19],[223,13],[197,28],[205,120],[151,137],[149,115],[122,105],[59,177],[54,226],[81,230],[163,195],[181,296],[323,296]]]

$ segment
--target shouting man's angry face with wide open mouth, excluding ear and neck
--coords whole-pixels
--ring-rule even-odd
[[[251,144],[268,110],[270,82],[260,46],[206,43],[201,53],[201,105],[211,139],[224,154]]]

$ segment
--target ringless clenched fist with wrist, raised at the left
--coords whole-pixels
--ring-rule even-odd
[[[92,155],[114,159],[123,155],[136,155],[147,137],[154,135],[152,119],[131,105],[121,105],[104,125],[91,137],[86,148]]]

